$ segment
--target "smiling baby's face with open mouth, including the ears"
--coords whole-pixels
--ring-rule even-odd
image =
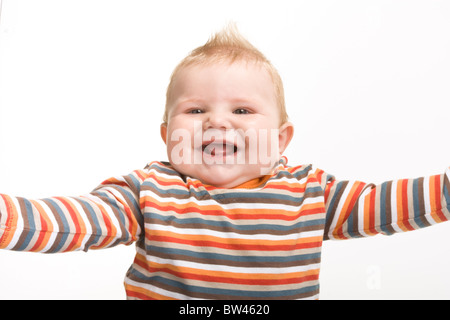
[[[172,166],[205,184],[231,188],[269,174],[293,128],[280,126],[272,79],[253,62],[180,71],[161,125]]]

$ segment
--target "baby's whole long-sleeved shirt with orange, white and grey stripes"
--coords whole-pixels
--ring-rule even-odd
[[[449,176],[375,186],[283,158],[257,185],[224,189],[152,162],[80,197],[0,195],[0,249],[55,253],[136,242],[129,299],[317,299],[323,240],[446,221]]]

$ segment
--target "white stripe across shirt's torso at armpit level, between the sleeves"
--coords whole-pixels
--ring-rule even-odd
[[[146,223],[145,228],[148,232],[152,230],[173,232],[184,235],[207,235],[212,237],[218,237],[223,239],[245,239],[245,240],[270,240],[270,241],[283,241],[283,240],[296,240],[305,239],[310,237],[321,237],[323,230],[305,231],[300,233],[293,233],[288,235],[272,235],[272,234],[239,234],[236,232],[220,232],[209,229],[188,229],[188,228],[176,228],[174,226],[160,225]]]

